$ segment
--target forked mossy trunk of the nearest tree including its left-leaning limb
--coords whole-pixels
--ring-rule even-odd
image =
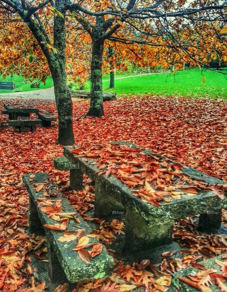
[[[27,11],[20,9],[20,7],[12,4],[20,17],[27,23],[32,34],[36,38],[43,54],[45,55],[50,73],[53,78],[55,100],[58,112],[58,143],[61,145],[73,145],[74,134],[72,126],[72,100],[71,94],[67,85],[66,70],[65,70],[65,11],[64,1],[56,0],[55,8],[62,15],[58,13],[54,16],[54,29],[53,29],[53,49],[48,48],[47,44],[51,45],[45,28],[40,23],[34,22],[31,16],[28,16]]]

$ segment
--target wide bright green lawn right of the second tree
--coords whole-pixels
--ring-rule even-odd
[[[223,69],[222,72],[227,73],[227,69]],[[103,91],[116,92],[118,96],[147,93],[164,96],[227,98],[225,76],[216,72],[207,72],[207,70],[203,70],[203,74],[206,78],[205,85],[202,84],[200,69],[192,68],[179,71],[179,74],[175,76],[175,83],[172,74],[167,78],[169,73],[161,73],[116,79],[114,89],[109,89],[109,81],[103,81]],[[108,76],[104,75],[103,80],[105,79],[108,79]],[[87,89],[90,90],[90,83]]]

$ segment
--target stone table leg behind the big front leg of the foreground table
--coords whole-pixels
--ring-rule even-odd
[[[124,206],[111,196],[111,192],[105,189],[105,184],[95,183],[95,217],[117,218],[124,214]]]

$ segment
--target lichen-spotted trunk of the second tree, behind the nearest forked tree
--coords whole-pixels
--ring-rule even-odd
[[[104,49],[103,23],[103,17],[96,17],[96,29],[92,32],[91,98],[87,116],[93,117],[101,117],[104,115],[102,104],[102,55]]]

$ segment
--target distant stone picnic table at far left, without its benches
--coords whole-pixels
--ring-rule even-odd
[[[27,103],[22,104],[6,104],[4,108],[9,113],[9,120],[27,120],[30,119],[30,113],[38,113],[39,109],[32,107]]]

